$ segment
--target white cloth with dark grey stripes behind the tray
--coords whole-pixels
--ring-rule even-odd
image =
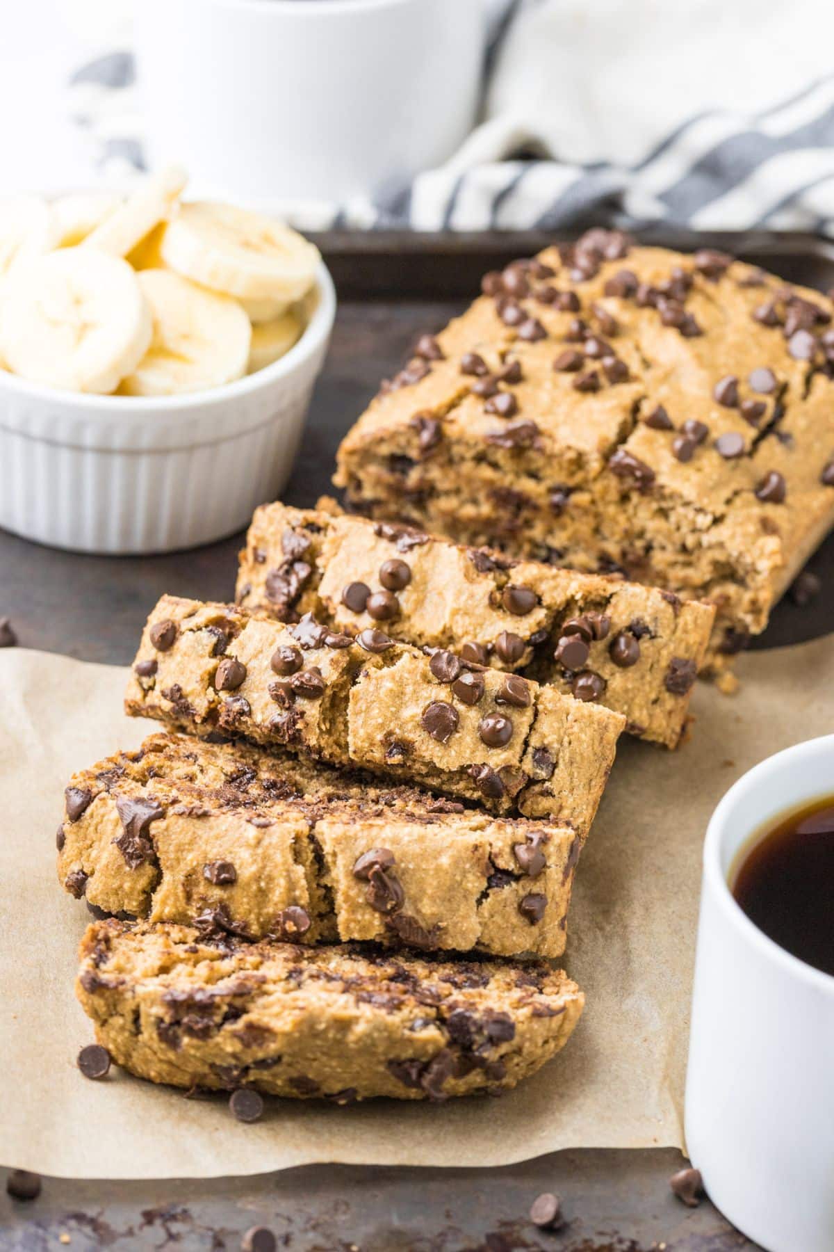
[[[306,229],[594,220],[834,238],[830,0],[504,4],[484,120],[445,165],[375,199],[285,215]],[[128,50],[78,70],[71,109],[110,179],[143,168]]]

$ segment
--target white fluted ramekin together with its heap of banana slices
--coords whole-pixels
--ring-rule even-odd
[[[318,249],[183,199],[0,202],[0,526],[85,552],[209,543],[274,500],[335,317]]]

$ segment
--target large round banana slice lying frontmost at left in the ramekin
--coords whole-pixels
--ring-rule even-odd
[[[145,356],[150,336],[136,274],[118,257],[61,248],[16,262],[4,280],[0,356],[21,378],[111,392]]]

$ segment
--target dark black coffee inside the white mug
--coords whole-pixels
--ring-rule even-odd
[[[743,848],[730,890],[769,939],[834,974],[834,798],[794,810]]]

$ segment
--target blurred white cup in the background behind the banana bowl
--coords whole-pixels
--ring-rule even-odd
[[[373,197],[475,121],[483,0],[136,0],[149,162],[253,204]]]

